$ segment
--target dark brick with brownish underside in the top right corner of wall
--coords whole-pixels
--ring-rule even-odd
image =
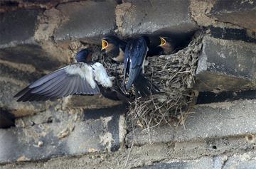
[[[256,31],[256,1],[217,0],[208,16]]]

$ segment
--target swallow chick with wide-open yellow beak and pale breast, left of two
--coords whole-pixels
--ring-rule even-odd
[[[124,62],[124,50],[127,43],[117,36],[102,38],[102,51],[116,62]]]

